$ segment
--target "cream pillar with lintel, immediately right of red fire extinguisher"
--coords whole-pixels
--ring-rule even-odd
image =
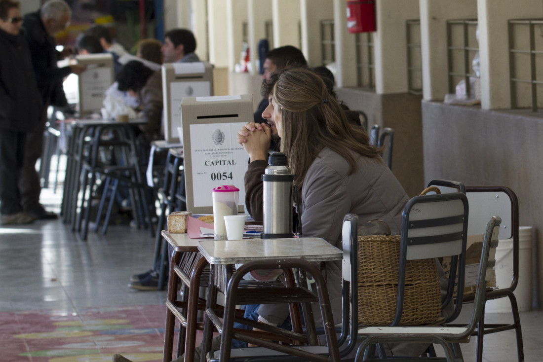
[[[419,0],[380,0],[376,5],[375,92],[407,92],[406,21],[419,18]]]

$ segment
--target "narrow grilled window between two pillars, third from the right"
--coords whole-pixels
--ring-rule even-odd
[[[422,94],[422,55],[420,48],[420,20],[406,21],[407,33],[407,90]]]

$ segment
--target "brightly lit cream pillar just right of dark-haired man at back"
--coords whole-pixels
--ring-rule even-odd
[[[228,4],[224,0],[208,0],[207,28],[209,29],[209,60],[217,68],[228,67]]]

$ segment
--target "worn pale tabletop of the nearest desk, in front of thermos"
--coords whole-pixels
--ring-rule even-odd
[[[321,238],[201,239],[198,242],[198,250],[210,264],[237,264],[274,258],[299,258],[321,262],[339,260],[343,254],[337,247]]]

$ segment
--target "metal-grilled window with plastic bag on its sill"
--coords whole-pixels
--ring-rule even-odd
[[[456,86],[465,81],[466,94],[473,95],[470,79],[479,78],[472,68],[473,58],[479,51],[477,20],[447,21],[447,59],[449,62],[449,93],[456,93]],[[473,97],[471,97],[473,98]]]

